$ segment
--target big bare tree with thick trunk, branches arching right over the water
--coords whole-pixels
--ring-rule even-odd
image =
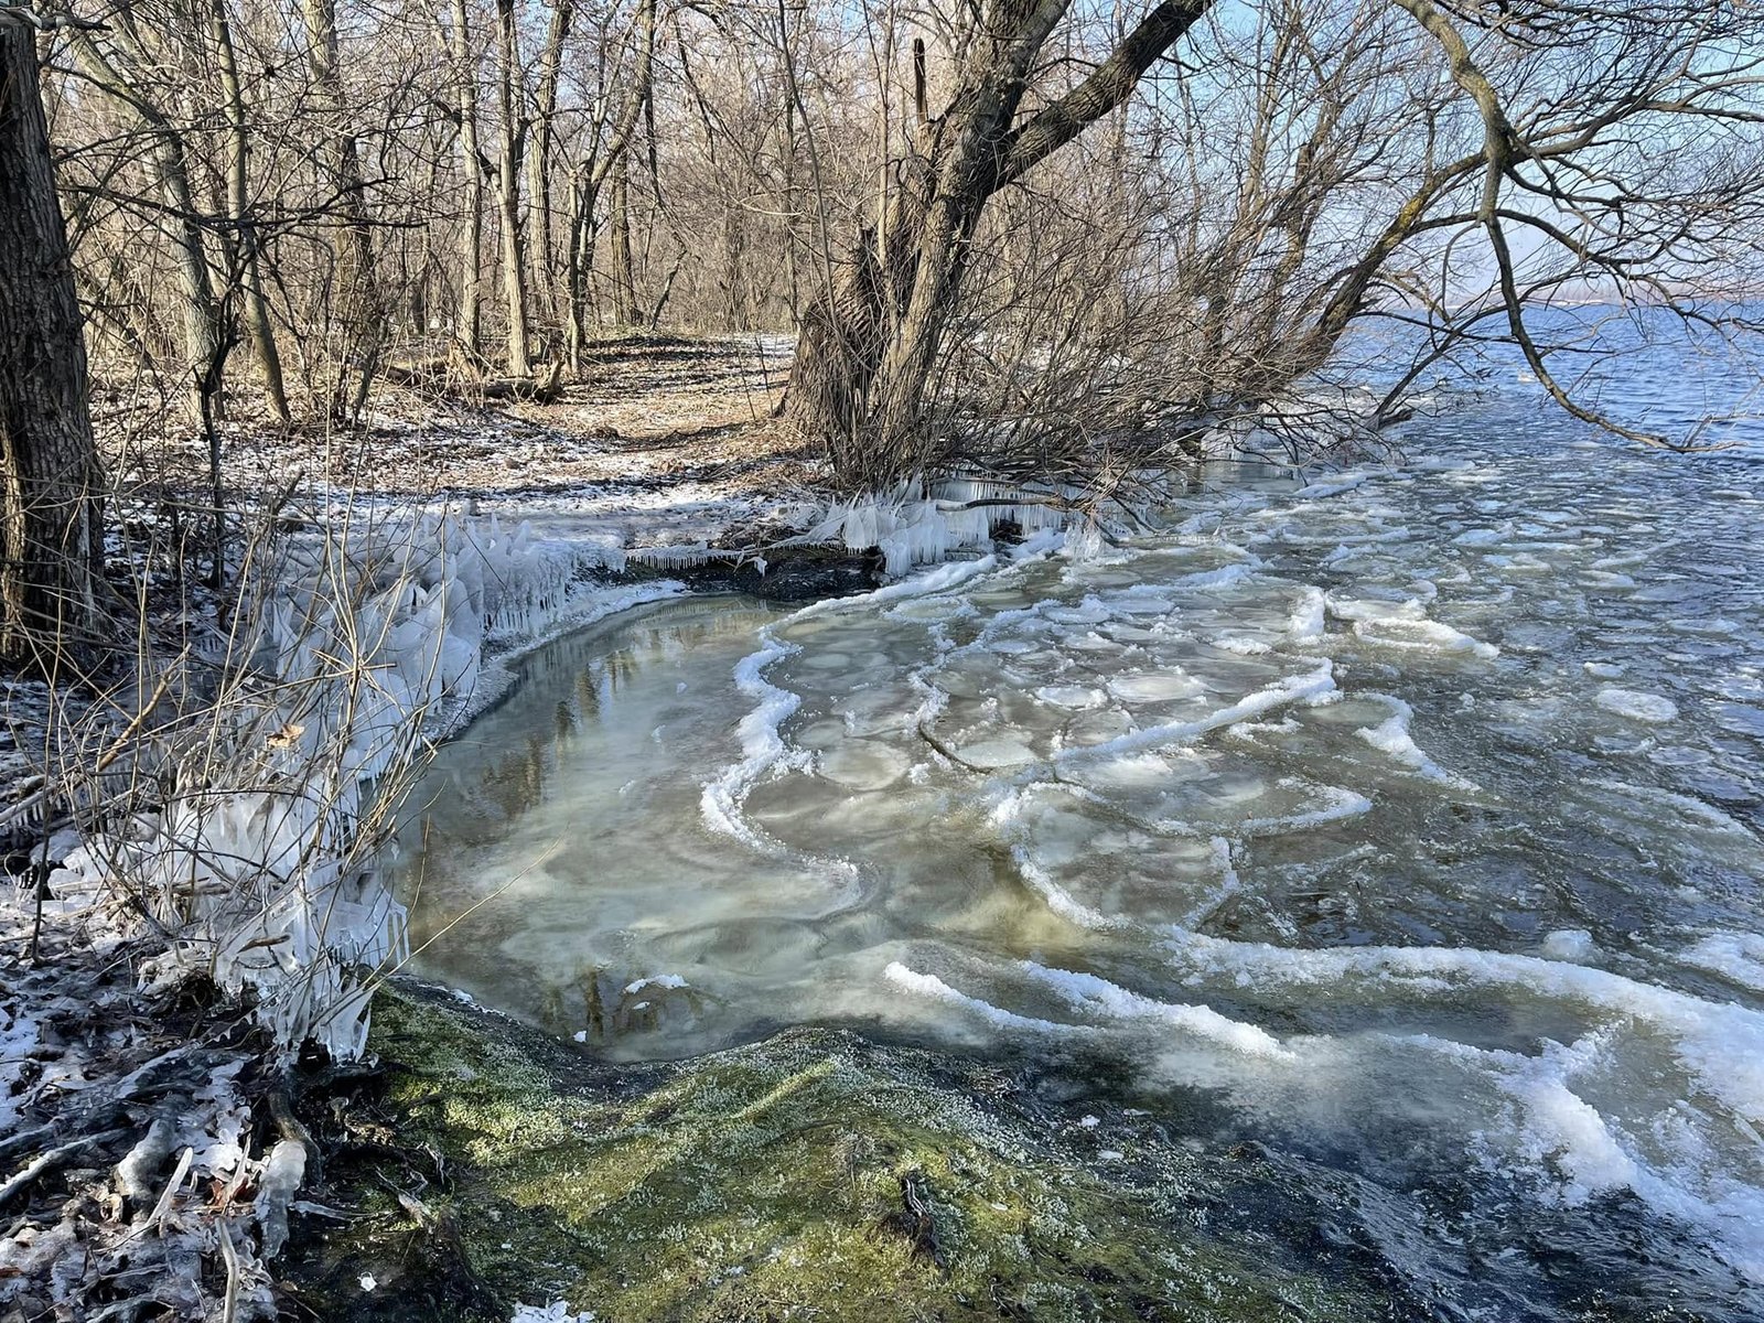
[[[1097,247],[1120,272],[1138,268],[1141,302],[1161,286],[1166,335],[1194,346],[1192,385],[1159,402],[1187,413],[1187,427],[1166,429],[1177,434],[1265,415],[1372,316],[1432,326],[1439,353],[1459,340],[1468,305],[1487,342],[1494,302],[1503,339],[1570,413],[1660,441],[1577,399],[1528,312],[1581,286],[1711,323],[1685,293],[1706,284],[1734,235],[1759,233],[1741,224],[1757,220],[1745,183],[1757,143],[1741,132],[1759,122],[1750,5],[1270,0],[1215,19],[1210,4],[1157,4],[1088,39],[1094,25],[1060,4],[998,0],[919,21],[949,53],[942,78],[919,44],[910,145],[859,242],[831,254],[840,275],[804,318],[790,386],[797,422],[856,485],[984,450],[984,423],[931,416],[960,411],[951,392],[974,393],[951,369],[984,358],[972,330],[995,282],[975,286],[975,266],[1013,279],[991,247],[1000,226],[1043,224],[1087,187],[1055,162],[1154,71],[1136,116],[1143,180],[1124,180],[1097,215],[1122,215],[1134,194],[1168,215],[1184,171],[1194,205],[1184,233]],[[1069,81],[1064,69],[1076,71]],[[1152,138],[1159,125],[1175,132]],[[1678,157],[1672,145],[1692,131],[1725,138],[1725,153]],[[1492,280],[1485,295],[1478,270]],[[1039,332],[1043,351],[1053,330]],[[1097,422],[1067,420],[1071,448]]]

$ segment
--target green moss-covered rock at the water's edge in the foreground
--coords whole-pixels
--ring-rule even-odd
[[[374,1050],[397,1067],[386,1152],[429,1152],[446,1185],[400,1205],[385,1161],[333,1162],[369,1215],[296,1256],[325,1318],[506,1323],[557,1298],[600,1323],[1397,1316],[1349,1267],[1210,1226],[1219,1173],[1196,1164],[1252,1180],[1252,1159],[1150,1120],[1104,1150],[997,1064],[804,1028],[612,1067],[407,990]]]

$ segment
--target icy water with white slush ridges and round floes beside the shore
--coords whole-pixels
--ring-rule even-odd
[[[1764,467],[1409,448],[550,646],[420,792],[420,963],[612,1055],[1117,1062],[1422,1316],[1764,1318]]]

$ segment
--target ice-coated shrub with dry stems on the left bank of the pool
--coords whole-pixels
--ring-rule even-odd
[[[376,856],[429,737],[471,700],[487,644],[559,624],[623,550],[450,513],[316,527],[250,547],[226,633],[143,649],[97,718],[127,716],[108,734],[127,757],[69,773],[85,845],[62,880],[115,889],[164,935],[150,974],[199,968],[249,993],[284,1050],[349,1058],[372,979],[406,956]]]

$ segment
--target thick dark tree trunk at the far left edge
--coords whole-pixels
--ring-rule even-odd
[[[0,192],[0,656],[48,670],[97,640],[101,485],[37,48],[4,19]]]

